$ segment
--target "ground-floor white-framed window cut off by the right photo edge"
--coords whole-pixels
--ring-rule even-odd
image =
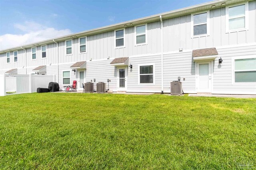
[[[256,83],[256,58],[234,60],[234,82]]]

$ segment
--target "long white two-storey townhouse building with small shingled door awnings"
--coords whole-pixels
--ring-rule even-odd
[[[216,0],[4,49],[0,73],[159,93],[180,77],[184,93],[256,94],[256,1]]]

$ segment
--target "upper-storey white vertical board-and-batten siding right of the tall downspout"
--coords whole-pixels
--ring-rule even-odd
[[[164,52],[204,49],[256,42],[256,1],[248,2],[248,29],[226,32],[226,7],[209,11],[209,35],[192,37],[191,14],[163,20]],[[203,13],[203,12],[202,12]]]

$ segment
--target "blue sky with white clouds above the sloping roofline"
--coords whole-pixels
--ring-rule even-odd
[[[210,0],[0,0],[0,49],[176,10]]]

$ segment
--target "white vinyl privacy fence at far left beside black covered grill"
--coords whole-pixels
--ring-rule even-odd
[[[0,96],[36,92],[38,87],[48,88],[49,82],[55,82],[54,75],[0,74]]]

